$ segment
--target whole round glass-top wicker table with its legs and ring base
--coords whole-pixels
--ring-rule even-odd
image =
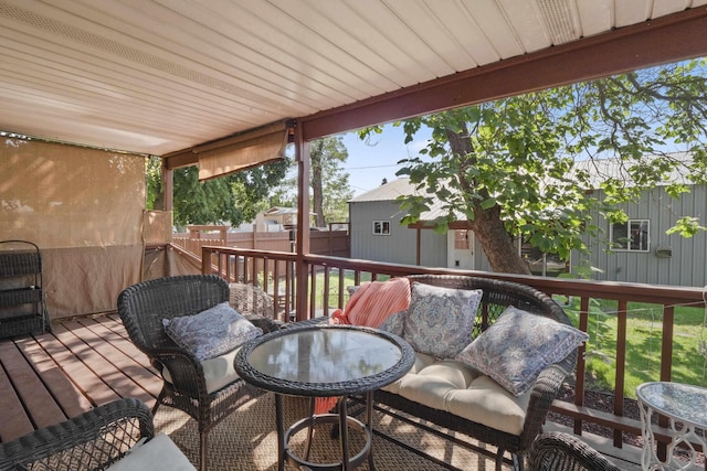
[[[307,324],[287,327],[246,343],[235,358],[235,370],[247,383],[275,394],[275,417],[278,441],[278,469],[285,462],[313,470],[350,470],[368,459],[372,470],[371,450],[373,392],[401,378],[414,364],[410,344],[397,335],[370,328],[351,325]],[[347,397],[366,396],[366,422],[348,415]],[[338,414],[316,414],[313,407],[306,417],[285,430],[282,395],[313,398],[337,397]],[[312,430],[316,424],[338,424],[341,461],[315,463],[308,461]],[[348,426],[365,433],[365,445],[349,457]],[[304,457],[294,453],[289,439],[308,428]]]

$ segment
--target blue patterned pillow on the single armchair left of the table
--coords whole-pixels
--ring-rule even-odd
[[[226,302],[193,315],[162,319],[167,335],[199,361],[213,358],[263,333]]]

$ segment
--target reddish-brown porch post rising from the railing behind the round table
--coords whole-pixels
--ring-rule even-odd
[[[307,266],[309,254],[309,142],[304,140],[302,126],[295,126],[295,159],[297,161],[297,242],[296,242],[296,320],[307,319]]]

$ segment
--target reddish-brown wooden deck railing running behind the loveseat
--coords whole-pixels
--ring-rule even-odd
[[[613,379],[615,388],[613,392],[605,392],[612,398],[612,409],[599,410],[585,405],[588,381],[584,347],[582,347],[577,364],[573,398],[571,398],[571,402],[556,400],[551,410],[563,419],[563,424],[570,422],[577,435],[581,435],[588,424],[609,428],[613,435],[613,445],[616,448],[623,447],[624,433],[641,435],[640,421],[626,417],[624,410],[627,399],[625,397],[625,365],[626,331],[631,317],[629,303],[651,303],[659,311],[659,327],[656,325],[655,328],[655,333],[659,335],[659,355],[657,358],[659,361],[659,371],[656,372],[657,377],[653,377],[650,381],[672,379],[675,307],[694,306],[705,308],[704,293],[699,288],[450,270],[319,255],[303,256],[304,266],[307,270],[308,286],[306,289],[299,290],[296,286],[295,264],[297,256],[295,254],[205,246],[202,249],[202,260],[203,272],[217,272],[229,280],[261,286],[273,296],[276,310],[281,313],[283,320],[294,319],[298,296],[306,296],[308,299],[307,312],[299,313],[299,319],[327,315],[334,309],[342,308],[346,304],[348,299],[346,287],[349,285],[414,274],[468,275],[503,279],[531,286],[556,298],[572,299],[574,300],[574,306],[579,306],[578,310],[573,310],[578,318],[577,327],[584,332],[588,331],[590,325],[590,312],[592,312],[590,304],[598,300],[612,301],[616,308],[610,314],[615,315],[618,329],[616,332],[609,336],[615,342],[615,358],[610,358],[614,365]],[[613,340],[614,335],[615,340]],[[667,441],[668,437],[666,426],[667,421],[662,418],[655,428],[658,438],[664,441]]]

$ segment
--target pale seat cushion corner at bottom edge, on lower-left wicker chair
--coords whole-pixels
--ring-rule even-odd
[[[194,471],[196,468],[167,435],[158,433],[151,440],[133,447],[108,470]]]

